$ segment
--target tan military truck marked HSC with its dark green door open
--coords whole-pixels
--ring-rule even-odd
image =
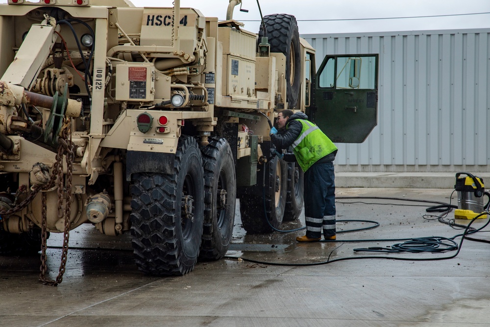
[[[327,56],[294,16],[258,34],[180,1],[8,0],[0,4],[0,253],[39,252],[59,283],[69,232],[130,232],[147,274],[220,259],[236,199],[247,232],[298,218],[302,172],[274,155],[269,122],[306,111],[334,140],[376,125],[377,55]],[[46,274],[49,233],[64,233]],[[44,268],[43,268],[44,267]]]

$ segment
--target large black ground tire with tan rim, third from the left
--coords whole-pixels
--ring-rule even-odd
[[[240,215],[247,233],[262,234],[274,231],[282,224],[286,207],[287,164],[277,156],[265,166],[265,190],[262,188],[262,174],[257,176],[259,187],[250,188],[240,196]],[[265,200],[264,200],[265,195]],[[269,223],[267,222],[269,220]],[[272,227],[271,227],[272,226]]]

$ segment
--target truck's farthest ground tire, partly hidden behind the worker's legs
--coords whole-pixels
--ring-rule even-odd
[[[295,162],[288,162],[288,186],[286,195],[286,208],[284,210],[284,222],[292,222],[298,219],[304,204],[304,173]]]

